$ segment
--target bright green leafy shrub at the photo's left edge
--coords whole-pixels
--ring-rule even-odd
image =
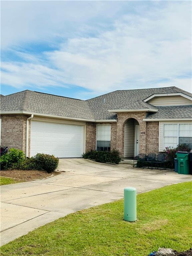
[[[1,169],[11,168],[15,163],[22,163],[25,154],[22,150],[10,148],[9,152],[0,157]]]

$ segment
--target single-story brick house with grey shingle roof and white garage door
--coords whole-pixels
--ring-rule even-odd
[[[121,157],[192,148],[192,94],[177,87],[117,90],[89,100],[36,91],[1,96],[1,145],[26,156],[81,157],[89,150]]]

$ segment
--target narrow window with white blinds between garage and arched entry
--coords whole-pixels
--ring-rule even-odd
[[[97,125],[97,151],[110,151],[111,148],[111,126]]]

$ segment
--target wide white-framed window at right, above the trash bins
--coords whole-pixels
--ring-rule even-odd
[[[192,149],[192,124],[164,124],[163,148],[176,147],[178,144],[189,144]]]

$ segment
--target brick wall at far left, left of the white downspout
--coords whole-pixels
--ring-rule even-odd
[[[26,147],[27,115],[1,116],[1,145],[21,149]]]

